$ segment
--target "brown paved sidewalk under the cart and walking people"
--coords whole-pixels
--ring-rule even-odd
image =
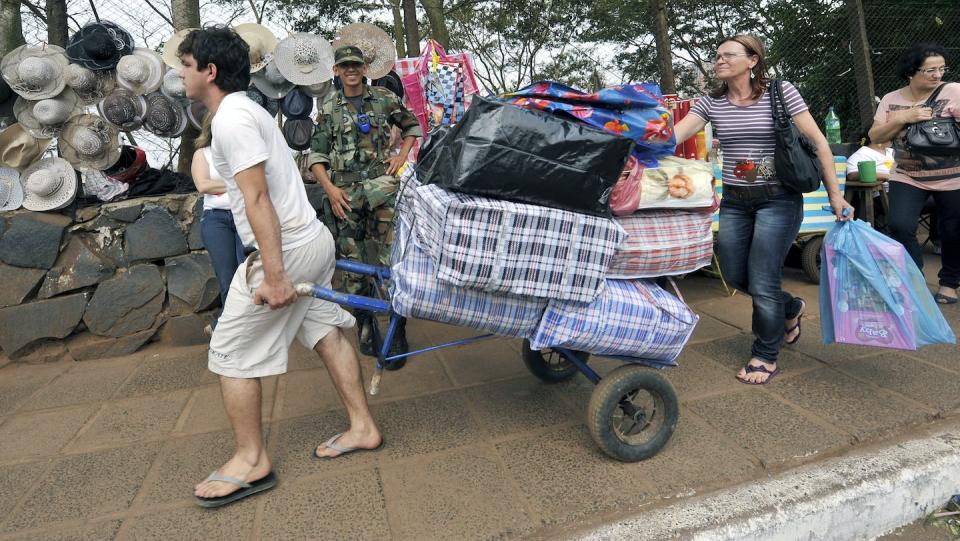
[[[787,289],[816,314],[817,286],[787,275]],[[935,268],[928,276],[935,283]],[[232,441],[203,347],[8,365],[0,540],[546,538],[902,438],[960,406],[956,346],[827,347],[816,317],[804,318],[773,384],[742,385],[733,375],[749,355],[750,299],[702,276],[681,287],[702,319],[680,368],[665,373],[681,398],[680,424],[659,455],[635,464],[607,458],[590,439],[592,385],[579,376],[541,383],[515,340],[427,354],[386,373],[371,399],[384,449],[311,460],[346,418],[322,363],[298,346],[291,371],[264,383],[281,484],[204,510],[192,487]],[[944,313],[960,331],[957,305]],[[409,333],[413,347],[468,334],[424,322]],[[591,365],[606,373],[619,363]]]

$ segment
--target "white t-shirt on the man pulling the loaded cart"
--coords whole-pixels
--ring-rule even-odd
[[[233,92],[220,103],[211,130],[212,163],[227,185],[233,220],[244,246],[256,246],[256,239],[234,175],[258,163],[265,164],[270,201],[280,220],[282,249],[306,244],[323,232],[287,142],[266,109],[251,101],[246,92]]]

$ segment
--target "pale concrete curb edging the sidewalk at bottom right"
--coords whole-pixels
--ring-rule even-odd
[[[570,539],[873,539],[960,492],[960,427],[656,508]]]

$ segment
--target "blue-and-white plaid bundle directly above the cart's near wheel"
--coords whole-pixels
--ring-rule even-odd
[[[565,347],[673,365],[698,319],[683,301],[653,282],[608,280],[606,291],[590,304],[550,301],[530,347]]]

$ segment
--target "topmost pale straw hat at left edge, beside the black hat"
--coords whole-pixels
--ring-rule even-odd
[[[21,45],[0,60],[0,74],[22,98],[43,100],[63,91],[69,63],[63,48],[56,45]]]

